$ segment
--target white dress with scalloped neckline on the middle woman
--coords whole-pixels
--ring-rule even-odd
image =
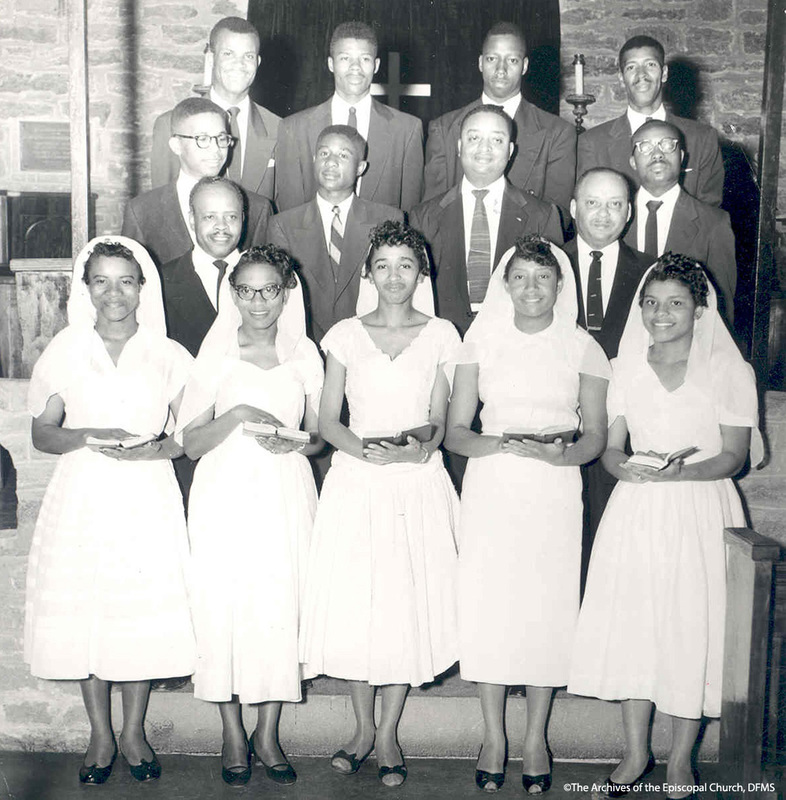
[[[437,371],[458,345],[455,328],[432,318],[391,359],[359,318],[334,325],[322,347],[346,367],[351,430],[426,424]],[[457,511],[439,451],[386,466],[333,454],[309,560],[307,675],[418,686],[455,663]]]

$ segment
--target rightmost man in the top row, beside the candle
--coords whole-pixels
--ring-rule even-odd
[[[633,188],[639,176],[630,165],[630,137],[648,119],[675,125],[682,133],[686,159],[682,185],[705,203],[719,206],[723,199],[723,158],[718,135],[702,122],[677,117],[663,106],[663,84],[669,74],[663,45],[651,36],[634,36],[619,55],[620,83],[628,108],[579,137],[578,174],[592,167],[611,167],[627,175]]]

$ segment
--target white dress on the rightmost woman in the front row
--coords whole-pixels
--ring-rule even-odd
[[[727,368],[755,417],[750,368],[739,357]],[[696,446],[686,463],[703,461],[721,451],[720,425],[750,425],[712,394],[687,382],[669,392],[644,365],[624,385],[612,379],[609,422],[624,415],[634,450]],[[652,700],[679,717],[719,716],[723,529],[744,524],[730,479],[617,483],[592,550],[568,691]]]

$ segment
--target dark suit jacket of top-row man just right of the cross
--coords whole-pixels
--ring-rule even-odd
[[[429,124],[424,199],[446,192],[464,174],[457,149],[461,120],[477,105],[479,99]],[[513,122],[516,149],[508,164],[508,180],[519,189],[554,203],[567,215],[576,179],[576,129],[523,98]]]

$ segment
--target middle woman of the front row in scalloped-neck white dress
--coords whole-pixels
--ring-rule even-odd
[[[319,411],[336,447],[314,525],[301,659],[307,675],[350,681],[355,733],[332,759],[357,772],[373,749],[380,780],[407,770],[397,741],[410,685],[432,681],[456,661],[453,537],[458,498],[437,449],[448,383],[442,365],[459,344],[445,320],[413,308],[428,275],[423,237],[401,223],[372,231],[366,280],[371,313],[334,325]],[[349,403],[350,425],[340,421]],[[369,434],[431,426],[406,443],[366,443]],[[421,441],[422,439],[422,441]],[[374,723],[375,687],[382,712]]]

